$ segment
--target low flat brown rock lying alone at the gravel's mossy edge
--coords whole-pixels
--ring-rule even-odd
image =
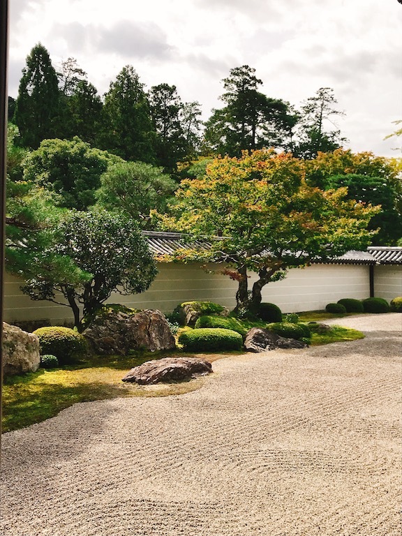
[[[131,368],[122,380],[149,385],[158,382],[178,382],[190,380],[196,375],[212,372],[211,363],[198,357],[164,357],[147,361]]]

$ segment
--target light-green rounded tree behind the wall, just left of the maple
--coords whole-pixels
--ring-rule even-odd
[[[149,212],[165,212],[176,187],[161,168],[143,162],[119,162],[102,175],[96,198],[101,207],[118,209],[134,218],[142,229],[150,229]]]

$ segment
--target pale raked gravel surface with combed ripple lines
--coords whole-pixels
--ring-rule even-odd
[[[400,536],[401,320],[4,434],[1,536]]]

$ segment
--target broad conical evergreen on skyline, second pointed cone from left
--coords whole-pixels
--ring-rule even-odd
[[[144,84],[128,65],[105,95],[99,144],[125,160],[155,163],[155,138]]]

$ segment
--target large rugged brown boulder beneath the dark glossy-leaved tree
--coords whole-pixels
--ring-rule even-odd
[[[83,332],[93,352],[126,355],[128,350],[172,350],[174,336],[161,311],[126,313],[111,309],[95,316]]]

